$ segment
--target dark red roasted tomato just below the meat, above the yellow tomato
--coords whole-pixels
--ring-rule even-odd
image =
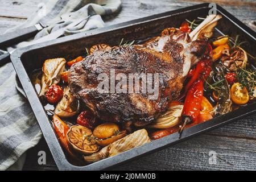
[[[96,126],[96,118],[93,115],[93,113],[89,110],[84,110],[79,114],[79,117],[77,117],[77,124],[87,127],[88,129],[94,129]]]

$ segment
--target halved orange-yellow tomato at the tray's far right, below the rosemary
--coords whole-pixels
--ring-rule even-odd
[[[250,99],[247,89],[238,82],[232,85],[232,88],[230,89],[230,97],[234,104],[237,105],[244,105]]]

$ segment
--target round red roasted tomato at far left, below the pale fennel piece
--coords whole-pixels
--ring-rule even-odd
[[[56,104],[62,97],[63,89],[56,84],[52,84],[46,92],[46,99],[50,104]]]

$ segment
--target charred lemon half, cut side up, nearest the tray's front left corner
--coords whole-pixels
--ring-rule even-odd
[[[73,150],[84,155],[93,154],[100,149],[92,131],[84,126],[72,126],[67,133],[67,138]]]

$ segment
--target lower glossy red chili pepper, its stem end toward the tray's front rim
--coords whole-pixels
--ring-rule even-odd
[[[193,83],[191,88],[189,88],[187,96],[185,98],[182,115],[185,117],[190,117],[193,122],[196,121],[196,118],[200,114],[200,107],[204,93],[203,88],[203,80],[197,80],[195,83]]]

